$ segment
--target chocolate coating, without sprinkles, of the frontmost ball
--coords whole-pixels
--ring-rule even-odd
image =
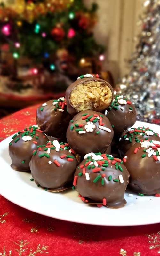
[[[104,155],[104,154],[103,154]],[[126,167],[124,164],[120,164],[119,162],[118,165],[120,165],[123,169],[123,172],[121,172],[118,169],[116,169],[115,165],[112,164],[112,160],[110,163],[108,163],[108,167],[100,166],[101,170],[100,172],[94,172],[94,169],[97,168],[93,165],[88,165],[91,166],[90,169],[88,169],[88,166],[85,166],[86,160],[91,159],[84,159],[82,163],[79,165],[79,167],[84,165],[83,168],[76,168],[75,176],[77,176],[77,181],[76,181],[76,190],[78,193],[84,197],[88,202],[92,203],[98,203],[98,204],[103,204],[103,198],[106,198],[107,201],[107,207],[109,208],[120,208],[123,207],[126,204],[126,201],[124,199],[124,192],[128,184],[128,179],[129,179],[129,172],[127,171]],[[103,161],[103,160],[102,160]],[[100,161],[101,162],[101,161]],[[94,168],[92,169],[92,166]],[[89,180],[86,180],[85,174],[81,175],[81,172],[89,173]],[[104,171],[102,171],[102,168]],[[80,174],[79,174],[80,173]],[[98,175],[104,175],[105,177],[100,179],[97,182],[93,182],[93,180],[98,176]],[[111,180],[108,180],[109,176],[111,177]],[[120,183],[119,180],[119,175],[123,176],[123,183]],[[102,185],[102,179],[104,179],[104,185]],[[118,182],[115,182],[113,180],[118,180]]]

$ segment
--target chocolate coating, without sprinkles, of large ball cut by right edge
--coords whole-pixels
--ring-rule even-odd
[[[135,148],[139,147],[140,143],[136,143],[126,152],[127,161],[125,164],[130,173],[129,187],[132,191],[142,194],[160,193],[160,161],[155,161],[153,156],[142,158],[145,154],[143,151],[147,148],[141,148],[135,154]]]

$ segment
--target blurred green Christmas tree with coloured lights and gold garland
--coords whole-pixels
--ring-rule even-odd
[[[100,71],[104,47],[92,33],[97,4],[87,9],[82,0],[14,2],[0,4],[1,78],[9,76],[13,90],[33,84],[65,90],[79,74]]]

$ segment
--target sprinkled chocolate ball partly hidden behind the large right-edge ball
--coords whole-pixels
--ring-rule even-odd
[[[129,128],[123,133],[123,136],[119,138],[118,142],[118,152],[120,157],[124,157],[125,153],[135,144],[141,140],[158,140],[160,137],[158,133],[153,132],[149,128],[138,127],[138,128]]]

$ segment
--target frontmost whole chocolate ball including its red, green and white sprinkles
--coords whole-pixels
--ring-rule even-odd
[[[90,153],[76,168],[72,188],[86,203],[120,208],[126,204],[124,192],[128,179],[129,172],[121,159]]]

